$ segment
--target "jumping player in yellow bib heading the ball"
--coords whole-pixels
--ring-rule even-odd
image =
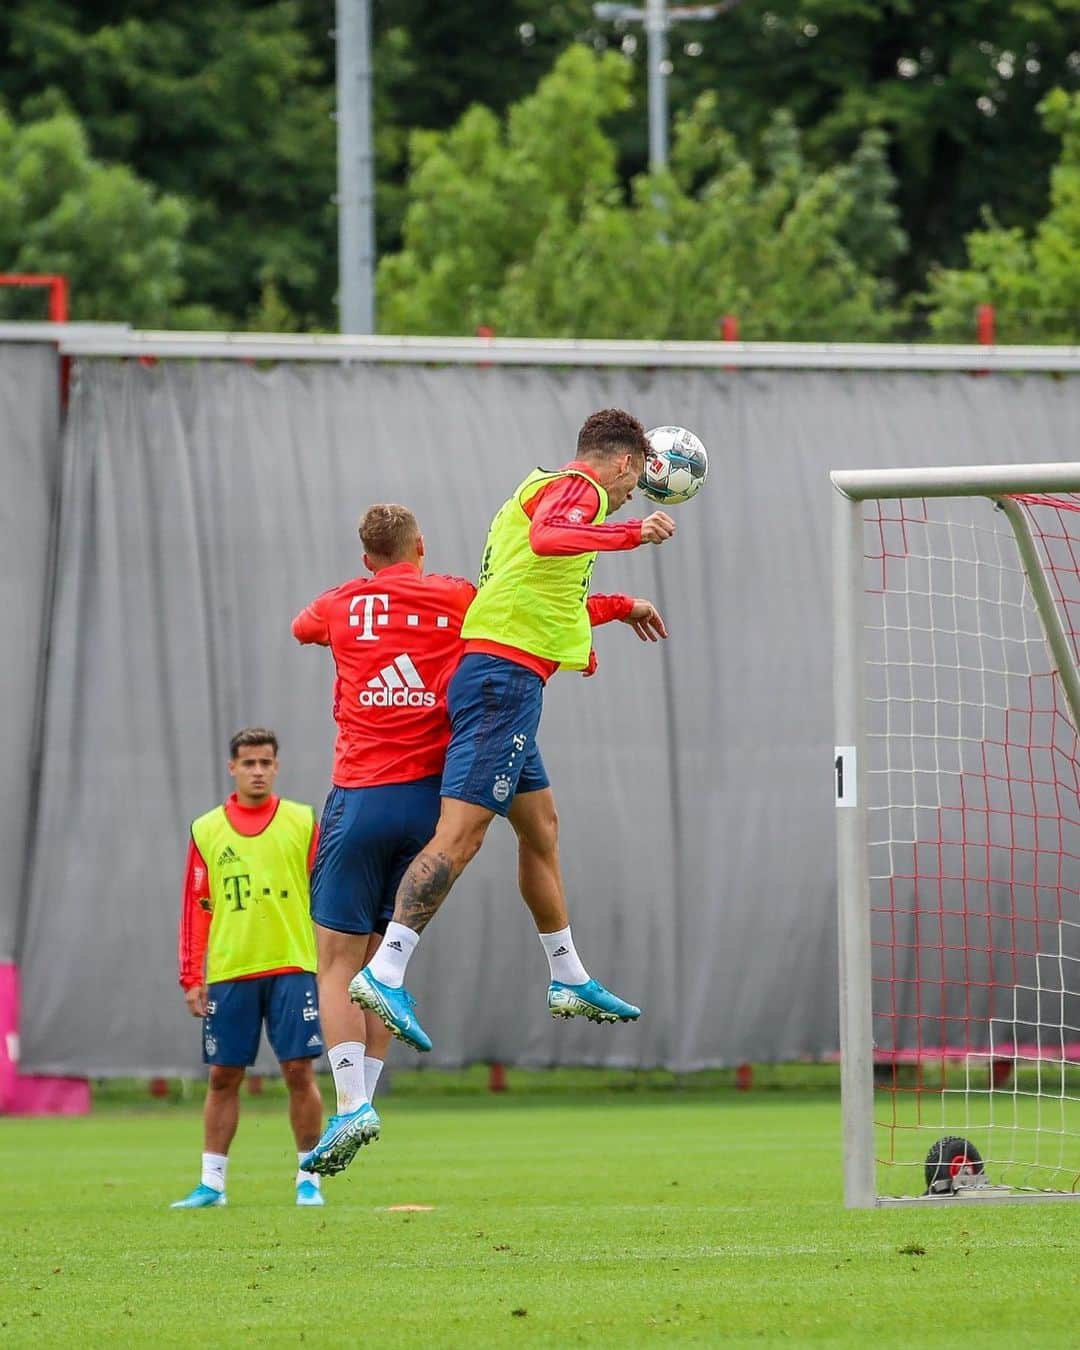
[[[662,544],[675,532],[664,512],[621,525],[606,517],[629,501],[644,470],[648,440],[621,409],[593,413],[578,433],[578,454],[556,471],[536,470],[491,522],[479,590],[462,636],[466,655],[448,691],[451,741],[433,837],[405,872],[386,940],[350,986],[400,1040],[429,1050],[405,969],[454,882],[475,856],[495,815],[518,836],[521,890],[548,956],[548,1008],[555,1017],[629,1022],[641,1010],[590,979],[570,932],[558,850],[555,798],[536,730],[544,684],[559,668],[590,674],[587,603],[597,554]],[[612,597],[643,641],[667,637],[648,601]],[[528,878],[526,878],[528,872]],[[528,894],[526,894],[528,892]]]

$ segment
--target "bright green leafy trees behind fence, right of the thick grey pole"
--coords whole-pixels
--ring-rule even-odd
[[[882,279],[905,239],[879,132],[817,174],[791,117],[740,155],[702,99],[670,171],[618,184],[605,126],[630,70],[574,46],[505,124],[474,108],[413,138],[404,248],[379,267],[390,332],[710,339],[726,310],[748,338],[887,335]]]

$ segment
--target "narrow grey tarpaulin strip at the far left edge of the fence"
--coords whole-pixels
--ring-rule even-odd
[[[26,913],[59,471],[58,389],[53,347],[0,347],[0,961],[15,956]]]

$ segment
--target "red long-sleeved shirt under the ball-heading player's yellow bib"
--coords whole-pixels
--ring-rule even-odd
[[[591,552],[621,552],[628,548],[637,548],[641,543],[641,521],[625,520],[617,524],[593,524],[599,514],[599,491],[593,483],[598,483],[591,464],[580,459],[571,460],[566,470],[575,470],[574,475],[556,478],[535,493],[524,506],[529,525],[529,545],[540,558],[572,558],[576,554]],[[591,482],[576,477],[585,474]],[[593,628],[609,624],[614,618],[625,618],[633,609],[630,595],[590,595],[586,602],[589,608],[589,621]],[[525,652],[520,647],[508,647],[505,643],[493,643],[486,637],[473,637],[464,644],[467,652],[486,652],[489,656],[501,656],[533,671],[545,683],[559,670],[558,662],[549,662],[533,652]],[[595,659],[590,657],[587,675],[595,670]]]

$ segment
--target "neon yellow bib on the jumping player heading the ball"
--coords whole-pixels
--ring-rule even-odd
[[[477,598],[468,606],[462,637],[504,643],[567,670],[585,670],[593,647],[585,602],[597,555],[539,558],[529,547],[525,504],[556,478],[585,478],[599,493],[594,524],[608,516],[608,493],[587,474],[575,468],[529,474],[491,521]]]

